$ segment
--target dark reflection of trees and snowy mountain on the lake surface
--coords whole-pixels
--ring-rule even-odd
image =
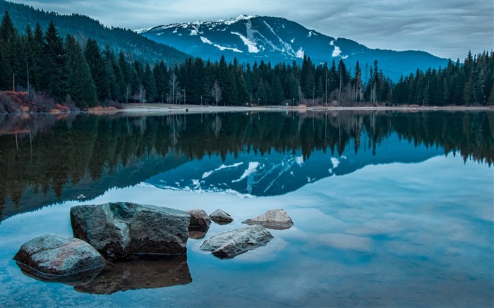
[[[369,164],[451,152],[490,166],[494,113],[1,116],[0,144],[4,220],[142,182],[248,197],[284,195]]]

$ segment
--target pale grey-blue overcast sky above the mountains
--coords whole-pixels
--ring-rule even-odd
[[[13,0],[59,13],[80,13],[108,26],[154,27],[240,14],[293,20],[370,48],[423,50],[463,60],[494,49],[493,0]]]

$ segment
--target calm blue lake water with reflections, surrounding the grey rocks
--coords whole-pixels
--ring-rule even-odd
[[[493,112],[3,116],[0,306],[493,307],[493,159]],[[235,221],[76,288],[12,260],[71,236],[73,205],[119,201]],[[277,208],[294,226],[267,246],[199,250]]]

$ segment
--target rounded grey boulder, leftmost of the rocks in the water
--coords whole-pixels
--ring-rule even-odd
[[[88,283],[105,264],[87,242],[54,234],[25,242],[13,259],[27,276],[68,285]]]

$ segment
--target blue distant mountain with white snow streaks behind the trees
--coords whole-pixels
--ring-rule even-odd
[[[160,25],[135,32],[181,51],[218,60],[237,58],[241,62],[271,63],[300,61],[304,55],[313,63],[336,62],[343,58],[347,68],[356,61],[363,70],[378,60],[379,68],[391,78],[409,75],[417,68],[445,66],[447,60],[423,51],[391,51],[369,49],[351,39],[335,38],[309,30],[285,18],[241,15],[229,20]],[[331,32],[328,29],[327,32]],[[372,33],[369,33],[372,35]]]

